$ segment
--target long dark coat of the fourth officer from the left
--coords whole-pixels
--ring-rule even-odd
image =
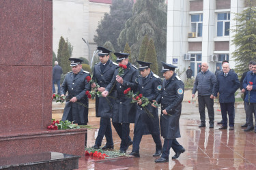
[[[143,82],[143,78],[139,75],[138,78],[138,91],[143,97],[147,97],[152,103],[153,100],[156,100],[161,90],[162,81],[155,75],[153,72],[150,72],[148,77]],[[145,106],[148,112],[150,112],[154,118],[148,116],[147,111],[141,105],[137,105],[137,114],[135,118],[135,129],[137,131],[138,127],[143,129],[143,135],[155,134],[160,135],[159,128],[159,117],[158,117],[158,108],[155,108],[149,103]]]

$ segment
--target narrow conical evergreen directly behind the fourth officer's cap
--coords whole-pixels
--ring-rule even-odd
[[[153,73],[158,75],[158,63],[157,63],[156,50],[155,50],[153,39],[150,39],[150,43],[147,46],[144,61],[148,63],[152,63],[150,65],[150,68],[153,71]]]

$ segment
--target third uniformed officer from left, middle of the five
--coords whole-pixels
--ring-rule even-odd
[[[132,144],[130,139],[130,123],[134,123],[136,113],[136,103],[130,103],[131,98],[124,95],[124,90],[131,88],[131,90],[137,89],[137,83],[135,79],[138,77],[137,69],[128,62],[128,53],[114,53],[117,56],[117,63],[119,65],[126,65],[124,73],[119,76],[119,69],[117,69],[113,75],[111,83],[106,86],[106,90],[102,92],[102,96],[106,97],[112,90],[117,90],[117,97],[115,99],[115,105],[113,109],[112,123],[115,127],[115,131],[121,138],[120,152],[126,153],[126,150]]]

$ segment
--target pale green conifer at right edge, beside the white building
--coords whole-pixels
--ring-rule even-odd
[[[236,61],[236,73],[242,75],[248,70],[248,63],[256,61],[256,7],[248,7],[240,14],[236,14],[236,34],[232,43],[236,50],[232,52]]]

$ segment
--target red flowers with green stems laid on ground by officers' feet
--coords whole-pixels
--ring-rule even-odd
[[[120,153],[119,150],[102,150],[94,148],[85,148],[85,156],[93,156],[94,158],[116,158],[119,156],[129,156],[126,153]]]

